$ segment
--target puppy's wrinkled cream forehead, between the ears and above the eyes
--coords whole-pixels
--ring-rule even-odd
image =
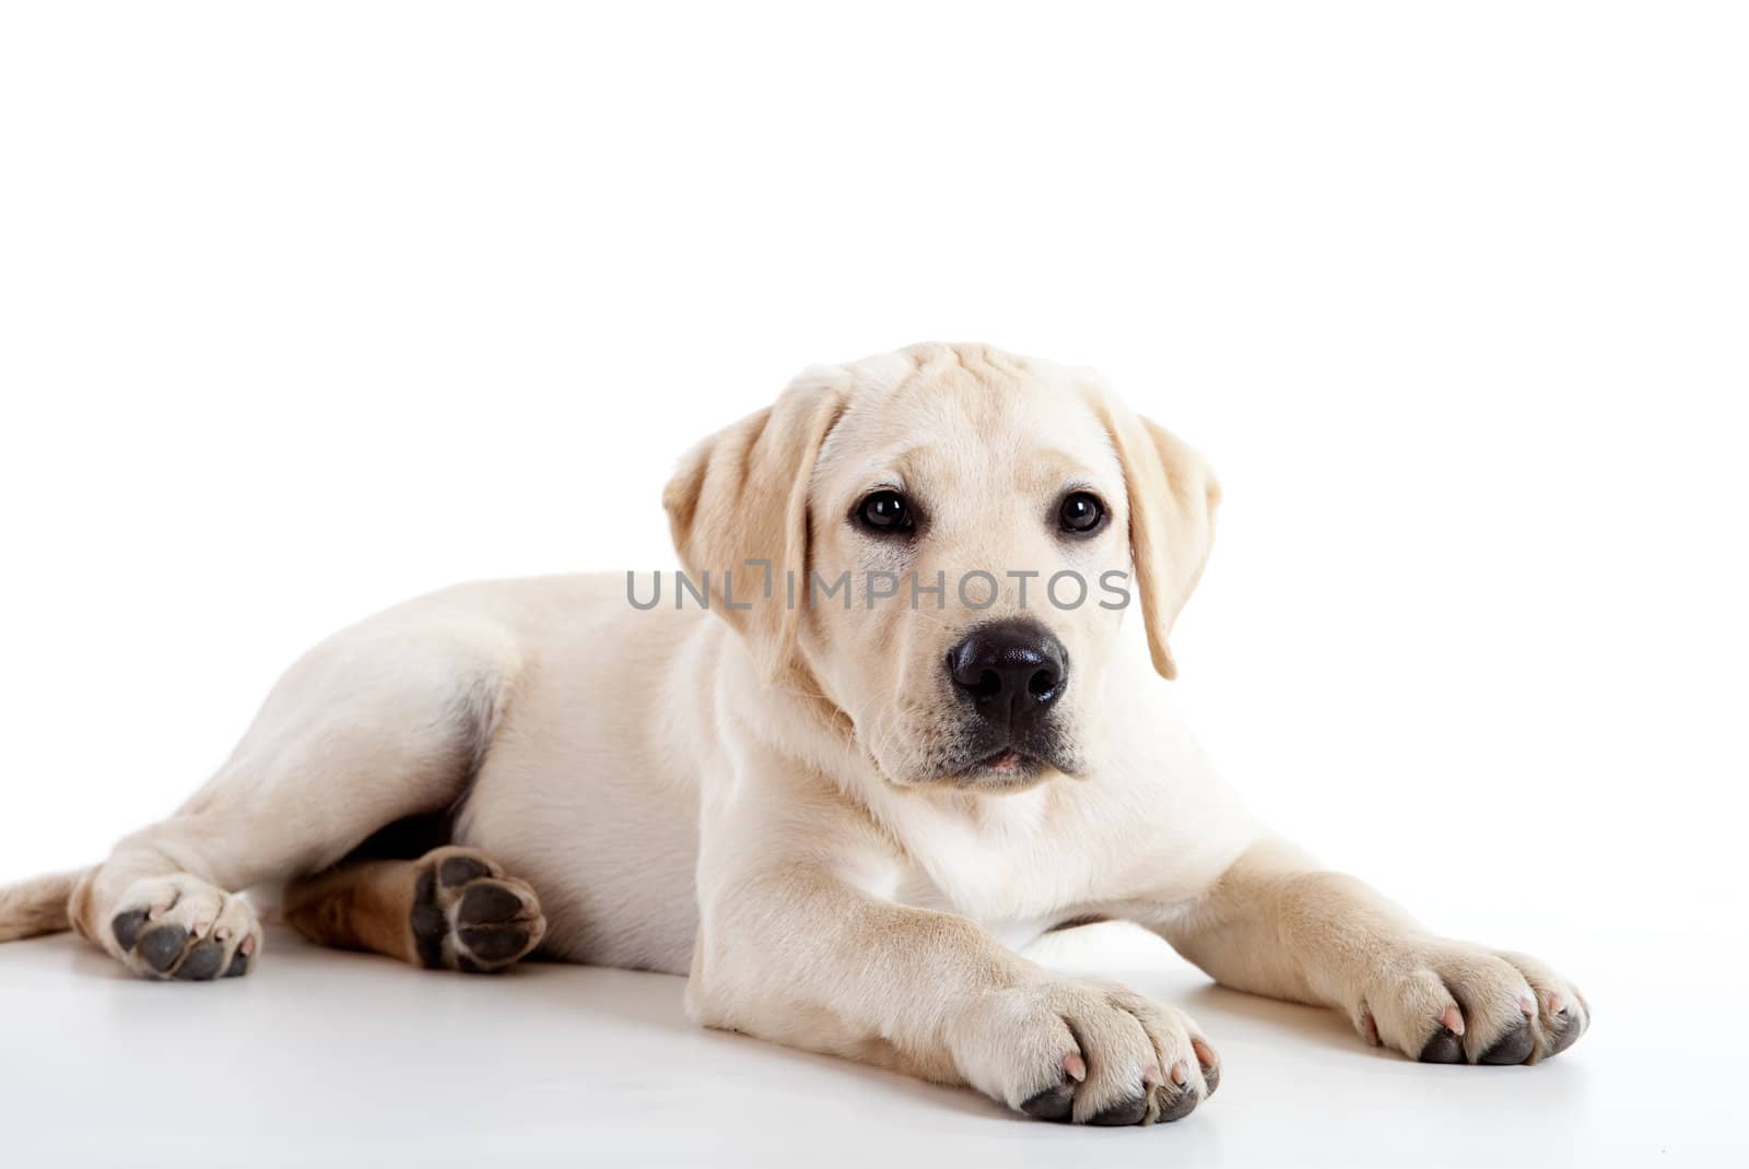
[[[854,493],[1121,491],[1111,435],[1055,369],[934,363],[895,381],[859,379],[815,461],[813,486]]]

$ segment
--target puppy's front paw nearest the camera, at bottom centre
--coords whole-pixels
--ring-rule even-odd
[[[1065,1124],[1179,1120],[1221,1082],[1188,1015],[1093,979],[992,991],[957,1020],[953,1047],[981,1092]]]

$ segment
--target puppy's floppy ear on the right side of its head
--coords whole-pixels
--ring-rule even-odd
[[[1147,650],[1161,678],[1177,678],[1167,638],[1179,610],[1209,563],[1214,508],[1221,501],[1209,461],[1165,426],[1158,426],[1104,391],[1093,409],[1111,432],[1130,496],[1130,559],[1147,622]]]

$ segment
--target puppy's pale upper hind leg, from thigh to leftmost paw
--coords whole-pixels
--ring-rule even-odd
[[[453,807],[518,669],[514,638],[449,594],[336,634],[287,671],[205,788],[80,881],[73,928],[147,977],[245,973],[261,926],[240,893]]]

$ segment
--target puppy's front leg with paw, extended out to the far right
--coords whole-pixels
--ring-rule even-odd
[[[1151,924],[1216,980],[1333,1006],[1369,1041],[1427,1062],[1536,1062],[1590,1026],[1585,998],[1544,963],[1427,933],[1279,840]]]

